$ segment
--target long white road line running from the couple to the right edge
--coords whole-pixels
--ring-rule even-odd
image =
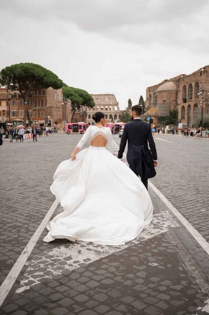
[[[114,141],[113,141],[114,142]],[[119,146],[114,142],[115,146],[119,148]],[[126,154],[124,153],[126,157]],[[187,231],[195,238],[195,240],[200,244],[200,246],[206,251],[209,255],[209,243],[206,239],[184,218],[183,215],[168,201],[168,199],[148,180],[148,184],[150,188],[157,194],[157,196],[166,204],[168,209],[173,212],[173,214],[179,219],[179,221],[185,226]]]

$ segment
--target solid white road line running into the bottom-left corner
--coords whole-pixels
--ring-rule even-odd
[[[0,287],[0,306],[3,304],[3,301],[7,297],[10,289],[12,288],[15,280],[17,279],[20,271],[22,270],[25,262],[27,261],[28,257],[30,256],[31,251],[33,250],[34,246],[37,243],[37,240],[41,236],[43,230],[45,229],[48,221],[50,220],[54,210],[57,208],[59,201],[56,199],[47,214],[45,215],[43,221],[41,222],[40,226],[37,228],[36,232],[31,237],[30,241],[27,243],[25,248],[23,249],[22,253],[18,257],[17,261],[15,262],[14,266],[8,273],[7,277],[5,278],[3,284]]]

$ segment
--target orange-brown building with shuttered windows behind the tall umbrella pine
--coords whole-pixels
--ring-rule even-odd
[[[1,94],[0,94],[1,95]],[[1,96],[0,96],[1,97]],[[6,95],[4,95],[6,101]],[[24,100],[18,91],[11,91],[9,98],[10,118],[14,125],[23,122]],[[63,90],[48,89],[33,90],[28,99],[28,110],[34,124],[44,125],[45,117],[51,118],[51,125],[58,122],[59,129],[64,126],[64,121],[71,120],[71,101],[63,102]],[[8,115],[9,116],[9,115]],[[26,121],[28,124],[28,120]]]

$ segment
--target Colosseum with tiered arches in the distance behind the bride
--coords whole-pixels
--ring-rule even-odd
[[[86,123],[93,123],[92,116],[95,112],[104,112],[107,123],[120,121],[120,108],[114,94],[91,94],[95,107],[86,108]]]

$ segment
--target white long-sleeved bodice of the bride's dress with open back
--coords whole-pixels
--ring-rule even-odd
[[[81,149],[88,140],[91,141],[98,135],[103,136],[107,140],[108,150],[114,153],[112,133],[109,127],[99,128],[97,126],[89,126],[76,147]]]

